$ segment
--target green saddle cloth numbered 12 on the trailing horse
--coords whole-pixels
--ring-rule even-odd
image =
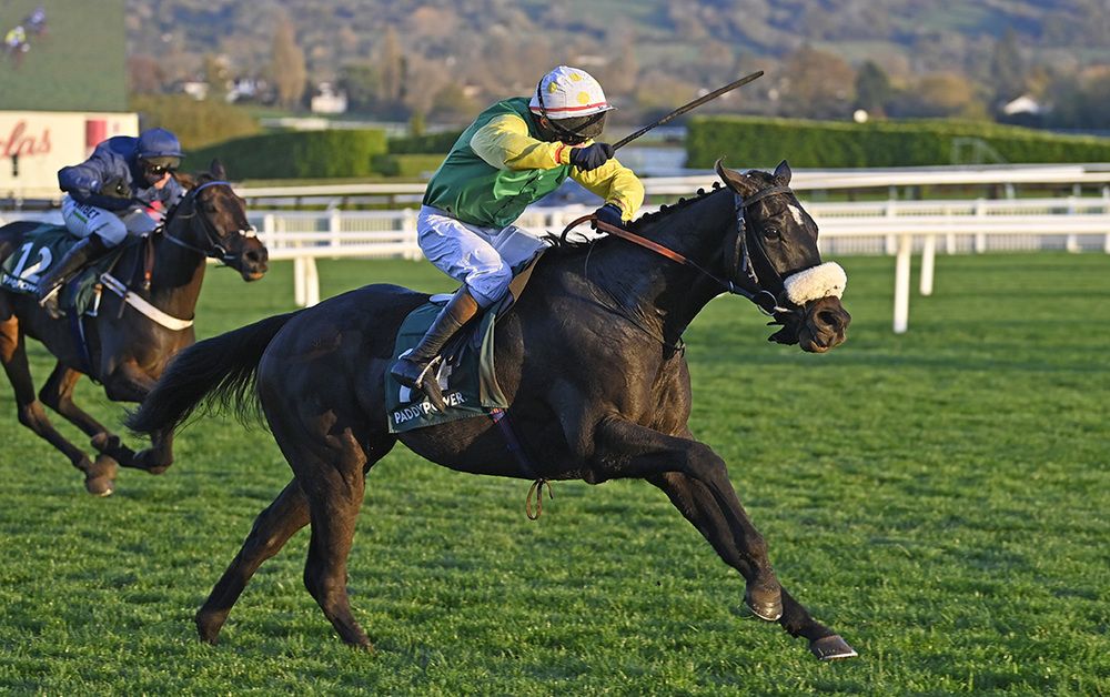
[[[39,279],[77,243],[78,238],[61,225],[43,223],[28,231],[23,243],[0,264],[0,287],[13,293],[34,293]],[[95,314],[100,274],[109,271],[131,244],[133,242],[121,244],[70,280],[59,295],[59,306],[77,310],[80,314]]]

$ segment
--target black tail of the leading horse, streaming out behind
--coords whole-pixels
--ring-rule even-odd
[[[231,410],[244,422],[256,417],[259,362],[273,337],[296,314],[266,317],[185,348],[128,416],[127,426],[138,433],[175,430],[202,404],[215,412]]]

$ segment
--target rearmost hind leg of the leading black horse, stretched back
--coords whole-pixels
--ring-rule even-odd
[[[254,521],[251,534],[228,570],[212,588],[208,600],[196,613],[196,630],[201,639],[215,644],[220,629],[228,620],[235,600],[262,563],[278,554],[299,529],[309,524],[309,502],[296,479],[290,482]]]

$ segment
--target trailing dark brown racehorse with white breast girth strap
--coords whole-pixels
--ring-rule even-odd
[[[111,272],[119,284],[105,283],[97,316],[83,320],[84,341],[78,339],[79,330],[70,320],[52,319],[34,295],[0,291],[0,362],[16,391],[19,422],[84,472],[91,494],[112,493],[118,464],[164,472],[173,461],[173,434],[154,433],[151,446],[134,453],[73,403],[81,375],[101,383],[112,401],[141,402],[170,358],[195,341],[192,319],[205,257],[221,260],[246,281],[261,279],[266,271],[266,249],[251,232],[243,200],[223,181],[223,166],[213,162],[210,172],[195,179],[176,176],[189,192],[167,213],[162,232],[122,253]],[[0,228],[0,259],[18,251],[23,234],[37,225],[23,221]],[[32,266],[28,272],[32,275],[23,277],[36,281]],[[27,361],[27,336],[42,342],[58,358],[38,398]],[[94,462],[58,433],[43,404],[92,438],[99,452]]]

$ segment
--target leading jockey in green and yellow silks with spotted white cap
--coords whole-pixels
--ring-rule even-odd
[[[443,397],[428,370],[443,345],[478,310],[501,300],[515,263],[543,242],[513,225],[525,208],[571,178],[597,194],[599,220],[623,225],[644,202],[644,185],[597,143],[613,107],[584,70],[559,65],[519,97],[483,111],[455,141],[428,182],[417,241],[437,269],[463,283],[393,376],[421,390],[433,406]]]

